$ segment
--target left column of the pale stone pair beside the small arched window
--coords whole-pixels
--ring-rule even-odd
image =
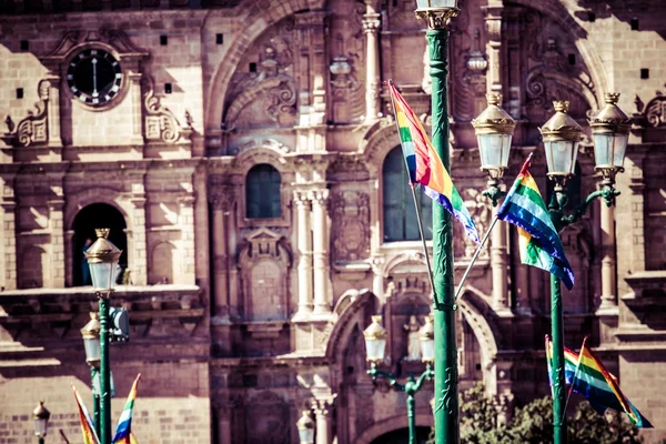
[[[312,228],[311,202],[306,193],[294,191],[296,206],[296,248],[299,249],[299,310],[294,319],[306,319],[312,313]]]

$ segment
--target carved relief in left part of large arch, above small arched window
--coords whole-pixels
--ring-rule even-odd
[[[285,19],[248,51],[230,83],[224,130],[296,123],[299,87],[294,80],[293,46],[294,21]],[[241,71],[245,67],[248,71]]]

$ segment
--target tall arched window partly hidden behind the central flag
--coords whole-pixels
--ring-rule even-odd
[[[393,149],[384,160],[382,171],[384,193],[384,241],[417,241],[418,222],[405,168],[402,148]],[[416,190],[425,239],[433,238],[432,200]]]

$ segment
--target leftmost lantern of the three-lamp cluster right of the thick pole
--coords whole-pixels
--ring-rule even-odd
[[[490,178],[488,189],[484,190],[483,195],[493,201],[493,206],[497,206],[497,201],[503,195],[498,188],[500,180],[508,167],[508,153],[516,121],[502,109],[502,94],[490,93],[486,98],[488,107],[472,120],[472,127],[478,141],[481,169]]]

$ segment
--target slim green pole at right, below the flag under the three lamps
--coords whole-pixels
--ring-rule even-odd
[[[562,287],[559,279],[553,274],[551,274],[551,334],[553,335],[553,437],[555,444],[566,444]]]

